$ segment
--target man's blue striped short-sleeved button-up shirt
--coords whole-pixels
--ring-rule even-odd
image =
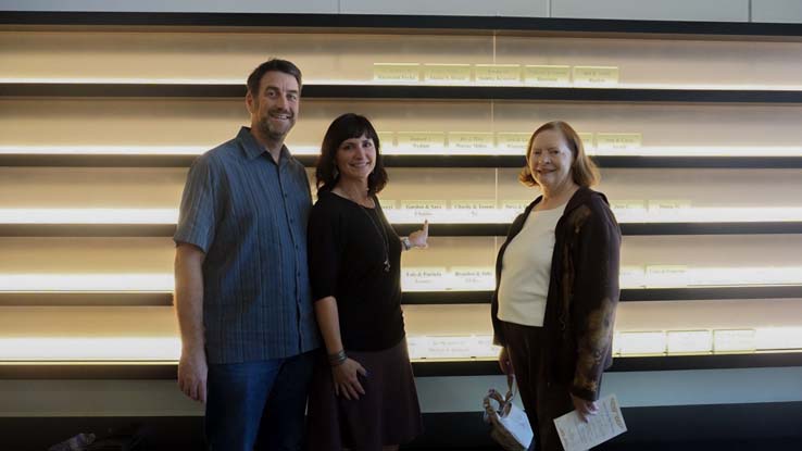
[[[176,243],[205,252],[210,363],[296,355],[318,347],[306,265],[312,196],[286,147],[279,163],[242,127],[192,164]]]

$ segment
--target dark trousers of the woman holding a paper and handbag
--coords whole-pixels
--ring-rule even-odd
[[[507,322],[502,322],[502,327],[521,400],[535,433],[534,449],[562,451],[554,418],[573,411],[574,403],[567,384],[547,383],[543,328]]]

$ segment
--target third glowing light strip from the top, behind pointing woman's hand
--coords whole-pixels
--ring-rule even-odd
[[[383,208],[394,224],[416,224],[424,220],[433,224],[506,224],[521,213],[517,208],[410,210],[394,208],[390,202],[383,203]],[[614,208],[613,211],[623,224],[802,221],[802,206],[680,206],[649,211],[647,201],[642,201],[642,205]],[[176,224],[177,220],[176,209],[0,209],[0,224]]]

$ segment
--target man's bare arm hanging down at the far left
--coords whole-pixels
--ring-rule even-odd
[[[181,333],[178,387],[189,398],[206,402],[206,354],[203,339],[203,272],[205,254],[193,245],[175,251],[175,308]]]

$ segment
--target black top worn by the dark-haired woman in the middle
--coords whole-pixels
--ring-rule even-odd
[[[310,216],[313,299],[333,296],[337,300],[346,350],[380,351],[404,337],[401,241],[378,199],[374,201],[376,208],[368,209],[333,192],[319,192]]]

